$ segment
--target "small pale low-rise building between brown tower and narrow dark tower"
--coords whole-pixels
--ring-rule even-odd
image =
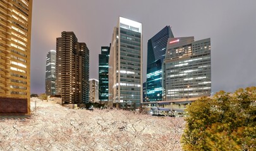
[[[97,79],[89,79],[89,82],[90,82],[89,102],[99,103],[99,81]]]

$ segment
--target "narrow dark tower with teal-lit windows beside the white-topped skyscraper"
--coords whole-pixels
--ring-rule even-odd
[[[110,47],[101,47],[99,54],[99,101],[109,100],[109,51]]]

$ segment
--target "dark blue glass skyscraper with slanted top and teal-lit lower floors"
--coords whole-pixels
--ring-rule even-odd
[[[174,38],[170,26],[147,42],[147,101],[162,101],[162,62],[168,38]]]

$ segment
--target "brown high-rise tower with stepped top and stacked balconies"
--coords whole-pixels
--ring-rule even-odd
[[[89,50],[78,42],[75,33],[63,31],[56,39],[56,94],[63,104],[88,102]]]

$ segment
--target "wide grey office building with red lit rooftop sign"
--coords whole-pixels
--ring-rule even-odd
[[[210,38],[169,38],[163,71],[164,100],[210,96]]]

